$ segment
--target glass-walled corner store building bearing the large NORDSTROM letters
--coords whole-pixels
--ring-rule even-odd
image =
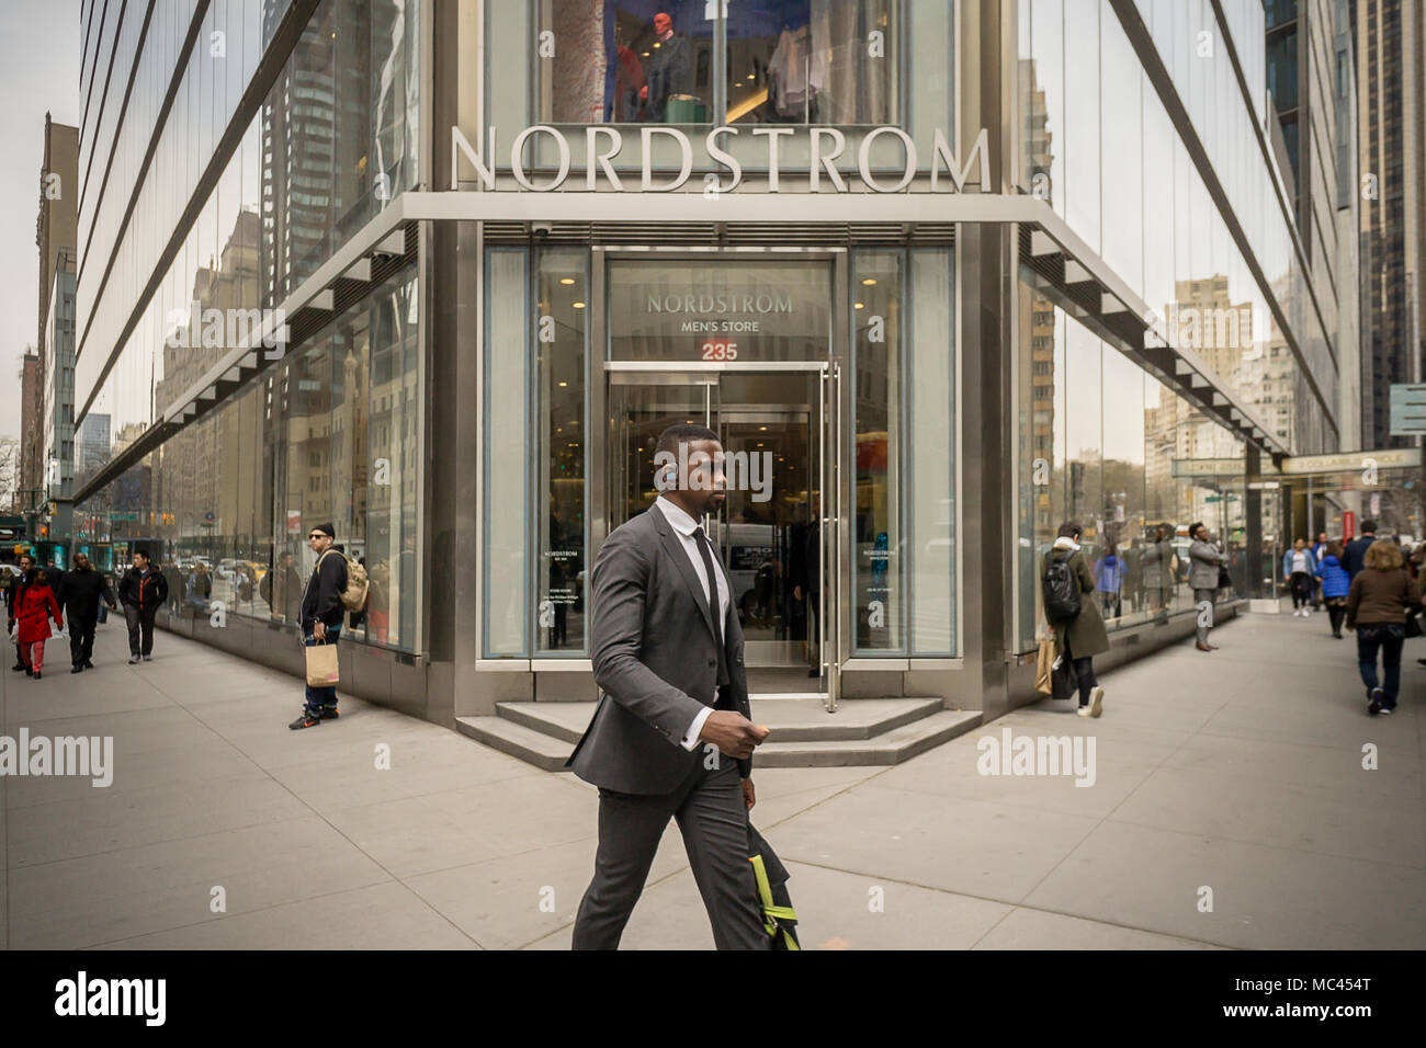
[[[86,7],[76,402],[111,446],[76,489],[90,540],[208,565],[168,616],[208,643],[299,664],[331,519],[372,579],[354,692],[593,700],[590,569],[696,422],[754,693],[990,717],[1061,520],[1151,650],[1195,615],[1135,575],[1155,528],[1186,560],[1208,523],[1232,613],[1275,462],[1343,446],[1256,0],[198,10]]]

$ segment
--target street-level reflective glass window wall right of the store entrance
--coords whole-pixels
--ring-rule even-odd
[[[1081,546],[1111,632],[1194,607],[1195,523],[1229,556],[1231,583],[1219,597],[1248,596],[1242,441],[1077,321],[1028,268],[1018,291],[1018,327],[1030,332],[1020,341],[1017,391],[1018,649],[1035,646],[1041,566],[1064,520],[1084,528]],[[1258,546],[1259,556],[1275,549]]]

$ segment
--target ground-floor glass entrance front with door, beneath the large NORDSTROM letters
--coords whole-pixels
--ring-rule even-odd
[[[586,291],[595,268],[602,295]],[[590,525],[615,528],[647,509],[655,441],[674,422],[713,428],[750,463],[747,495],[734,490],[713,525],[734,565],[734,597],[769,623],[784,662],[800,659],[791,649],[806,640],[800,593],[821,589],[809,529],[829,496],[819,479],[829,456],[844,463],[854,505],[853,650],[957,654],[951,250],[653,261],[647,251],[501,247],[486,252],[486,299],[482,657],[588,657]],[[589,345],[592,314],[602,346]],[[840,451],[826,446],[838,432],[810,378],[837,359],[848,364],[850,406]],[[605,462],[586,439],[585,391],[596,384]],[[512,398],[516,388],[533,396]],[[924,481],[911,482],[918,449]],[[606,465],[607,483],[592,493],[586,478]],[[533,518],[495,509],[518,505]]]

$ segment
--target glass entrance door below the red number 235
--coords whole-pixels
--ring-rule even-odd
[[[670,425],[719,435],[727,499],[704,528],[733,589],[754,690],[816,690],[836,702],[836,365],[729,364],[655,371],[607,362],[607,528],[659,495],[655,451]],[[606,532],[607,533],[607,532]],[[761,686],[759,672],[761,673]],[[776,684],[767,684],[779,670]],[[800,687],[791,682],[800,679]],[[816,684],[816,687],[813,687]]]

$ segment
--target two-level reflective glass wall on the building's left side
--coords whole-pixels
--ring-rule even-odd
[[[160,71],[171,71],[178,91],[133,194],[134,212],[123,221],[123,181],[97,178],[86,183],[93,207],[81,207],[94,238],[80,272],[87,338],[74,404],[108,416],[111,441],[78,462],[76,486],[161,426],[238,344],[235,332],[255,332],[264,311],[415,183],[415,3],[324,0],[288,43],[260,110],[241,128],[230,125],[287,10],[211,4],[187,54],[174,41],[191,10],[168,10],[150,27],[137,76],[151,76],[138,83],[161,98]],[[121,36],[125,44],[137,37]],[[140,133],[153,124],[134,120],[153,104],[138,97],[120,131],[138,155]],[[224,128],[237,133],[225,163]],[[116,148],[116,163],[124,157]],[[160,267],[168,231],[183,228],[183,202],[214,164],[222,167],[207,198]],[[155,268],[161,275],[145,299]],[[173,615],[193,629],[227,629],[228,616],[295,627],[312,559],[305,529],[331,519],[371,575],[369,610],[355,636],[416,650],[418,321],[408,267],[91,490],[76,513],[76,540],[110,562],[150,549],[170,576]]]

